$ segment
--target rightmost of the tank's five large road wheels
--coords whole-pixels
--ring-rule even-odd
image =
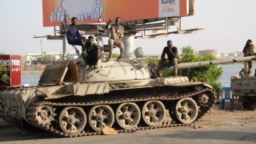
[[[192,98],[182,98],[177,102],[175,114],[179,122],[194,122],[198,117],[198,105]]]

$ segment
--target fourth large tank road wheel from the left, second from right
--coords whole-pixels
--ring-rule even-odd
[[[148,126],[158,126],[165,118],[166,108],[160,101],[146,102],[142,108],[142,118]]]

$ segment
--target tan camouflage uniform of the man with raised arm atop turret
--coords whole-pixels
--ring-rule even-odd
[[[124,48],[125,46],[122,43],[122,41],[120,41],[118,44],[116,44],[116,41],[119,38],[123,37],[124,28],[121,25],[119,25],[119,27],[117,27],[114,24],[112,24],[111,26],[109,25],[108,29],[110,30],[110,40],[109,40],[110,54],[109,54],[109,58],[112,57],[112,51],[113,51],[114,46],[119,47],[119,49],[120,49],[119,58],[122,58],[122,54],[123,54],[123,50],[125,49]]]

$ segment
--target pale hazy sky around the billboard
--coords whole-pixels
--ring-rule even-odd
[[[242,51],[247,39],[256,44],[255,6],[255,0],[195,0],[195,14],[182,18],[182,30],[204,30],[197,34],[170,34],[164,38],[138,38],[135,47],[142,47],[144,54],[161,54],[166,42],[172,40],[179,50],[192,46],[196,51]],[[44,52],[62,51],[62,41],[34,38],[34,35],[54,34],[54,27],[42,26],[42,0],[1,1],[0,18],[0,53],[39,53],[40,41]],[[74,51],[68,44],[66,46],[66,51]]]

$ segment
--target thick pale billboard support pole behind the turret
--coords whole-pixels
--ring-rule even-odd
[[[125,58],[129,58],[132,59],[134,58],[134,32],[130,32],[128,34],[125,34],[124,38],[123,38],[123,42],[125,45],[125,51],[124,51],[124,57]]]

